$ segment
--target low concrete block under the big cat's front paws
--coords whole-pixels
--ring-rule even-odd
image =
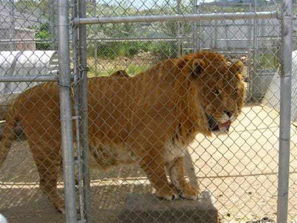
[[[153,194],[130,194],[120,223],[218,223],[218,211],[208,191],[196,201],[166,201]]]

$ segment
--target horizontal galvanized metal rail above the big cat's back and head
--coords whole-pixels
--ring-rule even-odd
[[[232,13],[205,13],[205,14],[181,14],[181,15],[150,15],[150,16],[116,16],[76,18],[73,25],[128,23],[128,22],[166,22],[166,21],[198,21],[198,20],[221,20],[221,19],[256,19],[277,18],[276,11],[264,12],[232,12]]]

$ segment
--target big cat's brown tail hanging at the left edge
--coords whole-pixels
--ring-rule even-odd
[[[11,147],[13,140],[15,139],[14,129],[17,126],[17,110],[14,103],[9,108],[6,114],[6,121],[2,129],[2,140],[0,146],[0,167],[3,165],[8,151]]]

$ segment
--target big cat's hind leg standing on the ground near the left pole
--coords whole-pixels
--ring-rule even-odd
[[[65,213],[64,199],[57,191],[62,160],[59,146],[55,142],[35,144],[30,140],[29,145],[38,169],[40,189],[58,212]]]

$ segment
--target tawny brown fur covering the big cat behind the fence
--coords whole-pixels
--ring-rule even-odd
[[[196,199],[199,190],[184,177],[183,150],[196,134],[211,135],[208,116],[244,104],[242,63],[227,65],[217,53],[200,52],[168,59],[131,78],[88,80],[89,143],[97,165],[108,168],[138,161],[159,197]],[[219,90],[220,95],[213,92]],[[61,167],[59,94],[56,83],[25,91],[8,111],[0,166],[20,121],[40,174],[40,187],[57,210],[64,202],[56,190]],[[165,168],[171,184],[168,182]]]

